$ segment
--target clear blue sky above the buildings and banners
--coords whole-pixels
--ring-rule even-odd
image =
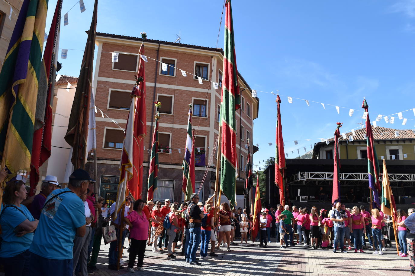
[[[77,1],[65,0],[62,14]],[[68,13],[60,48],[85,47],[93,0],[84,0]],[[49,29],[56,0],[49,1]],[[223,1],[103,1],[98,3],[97,31],[127,36],[215,47]],[[361,103],[369,104],[371,121],[415,108],[415,0],[403,1],[234,1],[234,36],[238,70],[252,89],[279,90],[283,137],[288,158],[310,150],[320,138],[332,137],[336,122],[343,131],[362,123]],[[222,21],[225,21],[225,16]],[[223,25],[218,47],[223,47]],[[83,51],[69,50],[61,74],[78,76]],[[293,97],[293,103],[286,96]],[[275,95],[258,92],[259,117],[254,120],[254,144],[261,166],[274,152]],[[303,98],[310,101],[310,107]],[[324,110],[320,103],[332,104]],[[340,113],[334,106],[342,106]],[[356,109],[349,117],[349,108]],[[394,115],[397,117],[397,115]],[[406,125],[395,118],[378,126],[415,129],[412,110],[403,113]],[[305,141],[305,139],[311,139]],[[294,145],[293,140],[299,144]],[[271,142],[273,146],[269,146]],[[291,154],[294,151],[294,154]],[[259,164],[261,161],[261,164]],[[262,167],[262,166],[261,166]]]

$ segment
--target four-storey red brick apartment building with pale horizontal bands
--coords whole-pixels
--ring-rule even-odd
[[[128,110],[131,103],[130,93],[134,85],[134,74],[137,72],[138,51],[141,38],[97,33],[95,43],[98,45],[95,65],[94,87],[95,105],[115,120],[121,128],[125,128]],[[170,198],[181,202],[183,178],[183,157],[186,143],[188,120],[188,104],[193,105],[193,128],[195,130],[195,148],[205,154],[205,163],[196,166],[196,190],[202,185],[200,200],[207,199],[212,192],[215,181],[216,149],[215,141],[219,129],[219,113],[221,88],[214,89],[209,82],[199,84],[198,78],[187,74],[184,77],[180,70],[167,66],[164,72],[161,63],[196,74],[212,82],[222,82],[223,50],[193,46],[181,43],[146,39],[145,55],[148,62],[146,70],[146,115],[147,135],[144,139],[144,179],[142,198],[146,198],[148,177],[148,148],[151,148],[151,137],[154,128],[154,101],[160,101],[161,118],[159,120],[159,177],[155,200]],[[118,62],[112,62],[112,53],[119,53]],[[254,119],[258,117],[259,98],[253,98],[249,85],[239,74],[239,86],[242,91],[242,108],[237,110],[237,153],[239,155],[237,194],[242,193],[242,182],[246,176],[248,151],[245,147],[247,138],[252,144]],[[124,132],[108,118],[100,113],[96,117],[97,160],[100,195],[112,203],[117,194],[119,165]],[[178,149],[181,149],[179,152]],[[254,146],[254,152],[257,148]],[[252,154],[252,150],[251,150]],[[201,156],[203,158],[203,155]],[[251,156],[252,158],[252,156]],[[88,166],[89,165],[89,166]],[[89,161],[87,168],[92,171]],[[205,166],[203,166],[205,165]]]

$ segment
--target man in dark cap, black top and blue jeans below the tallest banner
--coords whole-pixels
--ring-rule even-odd
[[[199,200],[199,195],[193,193],[190,196],[190,204],[187,207],[189,212],[189,245],[186,254],[186,262],[190,265],[199,265],[196,261],[196,251],[198,250],[200,243],[200,227],[202,226],[202,218],[204,217],[203,212],[199,206],[196,205]]]

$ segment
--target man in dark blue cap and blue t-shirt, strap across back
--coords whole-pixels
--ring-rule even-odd
[[[82,169],[69,177],[68,187],[54,190],[41,210],[32,245],[32,276],[72,276],[73,239],[85,235],[85,207],[79,197],[90,182],[95,182]]]

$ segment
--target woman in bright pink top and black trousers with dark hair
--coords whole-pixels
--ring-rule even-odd
[[[137,259],[138,271],[144,271],[143,260],[146,252],[146,241],[149,238],[149,221],[144,214],[144,200],[138,199],[134,202],[133,210],[128,216],[124,217],[125,223],[129,226],[131,244],[129,248],[128,272],[134,272],[135,258]]]

